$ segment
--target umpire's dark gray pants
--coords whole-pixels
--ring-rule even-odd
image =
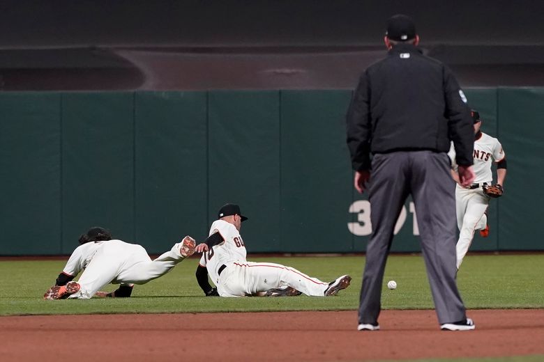
[[[372,159],[370,173],[372,235],[358,310],[359,324],[377,324],[381,285],[393,229],[409,194],[414,199],[421,249],[440,324],[463,320],[465,309],[455,283],[455,182],[446,153],[391,152]]]

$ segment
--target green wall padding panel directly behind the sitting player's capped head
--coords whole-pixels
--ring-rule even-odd
[[[249,218],[248,251],[278,251],[280,237],[280,93],[210,91],[209,221],[238,203]]]

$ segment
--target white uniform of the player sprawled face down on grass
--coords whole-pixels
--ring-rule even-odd
[[[89,299],[108,283],[145,284],[163,276],[184,259],[180,247],[181,243],[174,244],[170,251],[151,260],[143,246],[121,240],[82,244],[63,269],[68,276],[84,270],[77,281],[80,291],[69,298]]]

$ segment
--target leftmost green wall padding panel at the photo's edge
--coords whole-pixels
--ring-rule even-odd
[[[0,253],[61,253],[59,93],[0,96]]]

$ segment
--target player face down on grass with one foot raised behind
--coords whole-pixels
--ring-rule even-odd
[[[195,239],[186,236],[170,251],[151,260],[143,246],[113,239],[104,228],[91,228],[81,235],[78,246],[66,263],[56,283],[44,299],[89,299],[130,297],[134,284],[145,284],[167,274],[177,263],[195,253]],[[80,279],[72,281],[84,271]],[[111,293],[99,292],[108,283],[119,284]]]

